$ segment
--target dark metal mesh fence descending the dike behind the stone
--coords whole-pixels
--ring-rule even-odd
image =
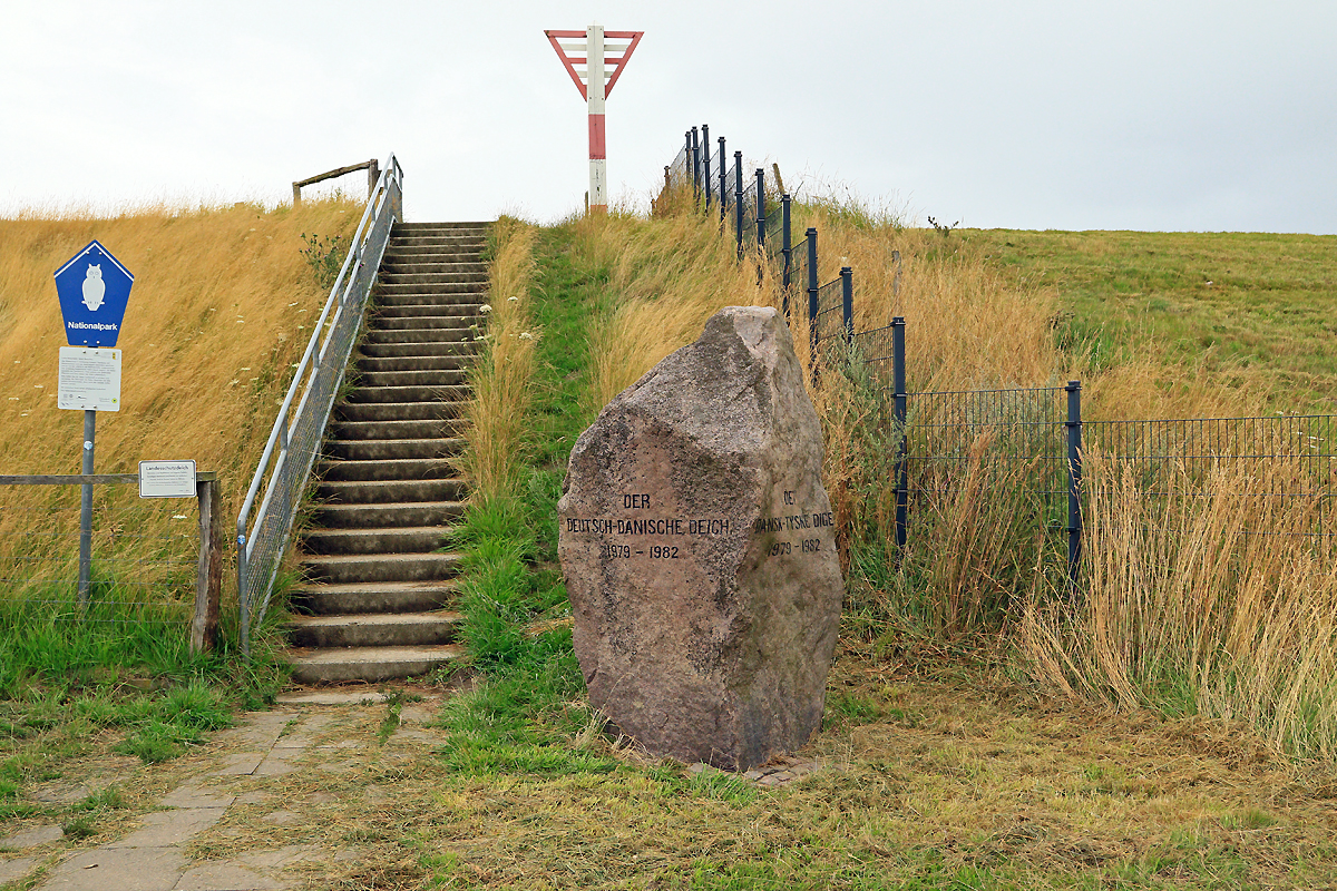
[[[702,131],[706,131],[703,127]],[[1337,456],[1333,454],[1333,418],[1281,415],[1271,418],[1197,418],[1169,421],[1083,421],[1082,385],[968,390],[910,391],[905,381],[905,319],[854,331],[853,271],[818,283],[818,234],[806,230],[793,242],[792,199],[767,199],[763,171],[743,176],[743,155],[735,151],[727,168],[689,167],[695,128],[686,132],[685,150],[674,164],[674,182],[690,186],[705,202],[719,202],[721,220],[729,224],[739,259],[755,256],[769,263],[779,282],[786,314],[805,311],[813,361],[820,367],[856,362],[885,397],[884,419],[894,442],[892,488],[896,500],[894,537],[904,550],[913,537],[956,520],[963,493],[987,481],[988,498],[1004,505],[993,520],[1028,534],[1034,566],[1070,592],[1079,584],[1083,508],[1083,456],[1099,456],[1120,473],[1131,473],[1139,492],[1150,498],[1183,496],[1230,497],[1259,506],[1273,516],[1281,504],[1304,504],[1298,525],[1285,530],[1258,526],[1246,534],[1301,536],[1324,553],[1337,554],[1333,498],[1337,496]],[[719,138],[715,163],[723,162]],[[718,171],[718,172],[715,172]],[[718,178],[718,179],[717,179]],[[746,179],[746,187],[745,187]],[[778,190],[775,190],[778,192]],[[900,289],[900,252],[893,252],[893,297]],[[1233,474],[1222,482],[1225,469]],[[1209,485],[1210,484],[1210,485]],[[1194,488],[1195,486],[1195,488]],[[1263,506],[1269,509],[1265,510]]]

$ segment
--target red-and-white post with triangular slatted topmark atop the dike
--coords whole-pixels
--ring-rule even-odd
[[[635,52],[644,31],[604,31],[603,25],[592,24],[584,31],[544,31],[558,57],[567,67],[567,73],[575,81],[580,98],[590,107],[590,212],[603,214],[608,210],[608,159],[604,139],[604,100],[618,83],[627,60]],[[575,39],[584,37],[582,43]],[[608,44],[607,40],[628,43]],[[608,52],[615,55],[607,55]],[[583,53],[583,55],[580,55]],[[584,65],[584,73],[576,71]],[[611,71],[611,73],[610,73]]]

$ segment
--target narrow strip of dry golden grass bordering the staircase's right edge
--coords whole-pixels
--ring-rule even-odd
[[[461,458],[473,492],[483,498],[504,494],[515,484],[540,335],[529,317],[535,228],[503,216],[493,223],[491,239],[488,330],[469,375],[473,398]]]

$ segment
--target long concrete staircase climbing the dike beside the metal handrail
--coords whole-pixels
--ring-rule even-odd
[[[452,466],[483,326],[484,223],[400,223],[317,462],[290,596],[293,679],[381,681],[457,657],[459,554],[444,553],[465,484]]]

